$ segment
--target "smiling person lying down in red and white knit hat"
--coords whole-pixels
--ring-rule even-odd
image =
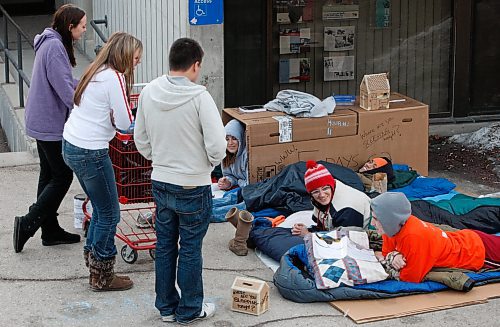
[[[314,207],[313,221],[316,226],[307,228],[297,223],[292,235],[304,236],[309,232],[330,231],[339,226],[368,228],[370,224],[370,198],[339,180],[316,161],[306,163],[304,182]]]

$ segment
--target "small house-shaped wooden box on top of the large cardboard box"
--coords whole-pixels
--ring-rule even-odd
[[[359,90],[359,106],[366,110],[388,109],[391,86],[387,73],[363,76]]]

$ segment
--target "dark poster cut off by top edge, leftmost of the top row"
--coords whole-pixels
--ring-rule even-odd
[[[313,20],[314,0],[274,0],[276,22],[295,24]]]

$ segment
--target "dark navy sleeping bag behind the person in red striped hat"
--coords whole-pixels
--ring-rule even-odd
[[[335,179],[364,192],[364,185],[353,170],[325,161],[318,162],[324,165]],[[301,161],[286,166],[270,179],[245,186],[241,195],[247,210],[274,208],[285,215],[312,210],[311,198],[304,185],[305,172],[306,163]]]

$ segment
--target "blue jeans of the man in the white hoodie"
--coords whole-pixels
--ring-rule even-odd
[[[156,302],[162,316],[189,321],[203,305],[201,248],[212,210],[210,186],[152,181],[156,203]],[[181,295],[175,288],[177,284]]]

